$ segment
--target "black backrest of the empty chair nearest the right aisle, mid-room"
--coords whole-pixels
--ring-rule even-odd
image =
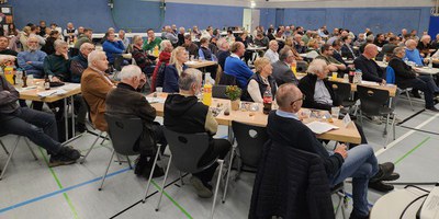
[[[389,91],[357,85],[357,93],[361,101],[361,112],[370,116],[379,116],[380,108],[389,101]]]

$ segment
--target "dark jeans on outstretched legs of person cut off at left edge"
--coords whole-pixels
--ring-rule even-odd
[[[27,137],[50,154],[59,152],[58,129],[53,114],[19,107],[12,114],[2,114],[0,132]]]

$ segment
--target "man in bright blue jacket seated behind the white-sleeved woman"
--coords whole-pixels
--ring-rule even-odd
[[[240,42],[235,42],[230,48],[232,55],[226,58],[224,65],[224,73],[234,76],[236,78],[237,85],[246,90],[247,81],[254,74],[254,72],[248,68],[248,66],[240,60],[240,57],[246,53],[244,44]]]

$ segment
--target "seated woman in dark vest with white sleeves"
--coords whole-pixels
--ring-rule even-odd
[[[263,103],[262,96],[267,89],[271,89],[273,96],[278,90],[278,84],[274,78],[271,77],[273,67],[271,67],[270,59],[262,57],[255,60],[255,69],[256,73],[248,80],[243,100]]]

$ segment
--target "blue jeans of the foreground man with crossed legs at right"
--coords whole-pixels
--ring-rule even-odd
[[[368,184],[369,178],[378,173],[379,165],[372,147],[360,145],[348,151],[338,174],[329,178],[335,186],[347,177],[352,177],[353,211],[358,216],[368,216]]]

